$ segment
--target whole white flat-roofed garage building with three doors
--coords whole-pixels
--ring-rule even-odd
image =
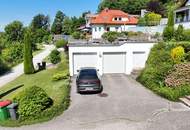
[[[152,42],[112,44],[70,44],[69,70],[76,75],[81,67],[96,67],[100,75],[109,73],[131,74],[145,66]]]

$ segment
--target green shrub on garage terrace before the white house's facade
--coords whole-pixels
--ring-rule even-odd
[[[117,32],[106,32],[102,35],[102,38],[104,40],[107,40],[109,42],[114,42],[118,37],[118,33]]]

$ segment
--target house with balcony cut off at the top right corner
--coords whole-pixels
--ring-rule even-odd
[[[186,0],[180,8],[175,10],[175,24],[190,28],[190,0]]]

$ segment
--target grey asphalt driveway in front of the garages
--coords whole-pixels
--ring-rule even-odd
[[[105,75],[105,97],[76,93],[72,79],[71,106],[52,121],[0,130],[189,130],[190,111],[165,100],[123,74]]]

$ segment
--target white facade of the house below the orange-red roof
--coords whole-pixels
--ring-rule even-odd
[[[113,32],[124,32],[131,27],[136,27],[136,25],[92,25],[92,39],[101,39],[102,35],[108,32],[108,29]]]

